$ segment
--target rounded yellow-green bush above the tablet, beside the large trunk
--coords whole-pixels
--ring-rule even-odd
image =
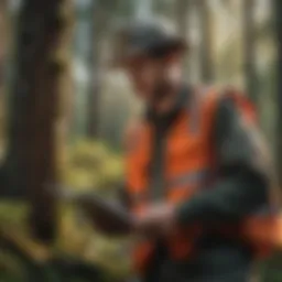
[[[121,159],[106,144],[80,140],[67,149],[62,166],[63,183],[67,186],[111,194],[121,176]]]

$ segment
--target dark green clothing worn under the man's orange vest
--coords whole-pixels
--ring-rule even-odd
[[[188,102],[188,93],[187,87],[180,91],[174,108],[166,116],[158,117],[152,110],[148,113],[150,122],[154,124],[150,191],[155,199],[161,198],[163,193],[165,134],[183,105]],[[213,188],[197,193],[177,209],[181,224],[197,223],[207,227],[205,235],[198,238],[198,253],[192,261],[175,262],[170,260],[160,242],[154,263],[148,271],[148,282],[248,281],[252,251],[241,242],[208,231],[208,227],[239,221],[268,204],[267,165],[258,165],[264,160],[253,138],[251,131],[243,127],[243,119],[235,102],[230,98],[223,98],[216,111],[213,140],[220,181]],[[260,159],[261,162],[258,162]]]

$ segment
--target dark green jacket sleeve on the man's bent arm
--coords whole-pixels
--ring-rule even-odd
[[[256,124],[247,126],[230,98],[219,104],[213,141],[220,178],[176,209],[180,224],[230,224],[268,205],[265,144]]]

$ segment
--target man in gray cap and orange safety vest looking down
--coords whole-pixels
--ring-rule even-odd
[[[257,243],[273,235],[262,229],[273,228],[269,163],[251,105],[232,89],[187,85],[186,44],[163,25],[132,23],[119,39],[119,63],[147,106],[126,138],[142,281],[249,281]]]

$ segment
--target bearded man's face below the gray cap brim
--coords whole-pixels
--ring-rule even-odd
[[[178,79],[181,62],[180,56],[173,55],[161,58],[135,56],[124,62],[124,69],[138,95],[150,101],[163,85]]]

